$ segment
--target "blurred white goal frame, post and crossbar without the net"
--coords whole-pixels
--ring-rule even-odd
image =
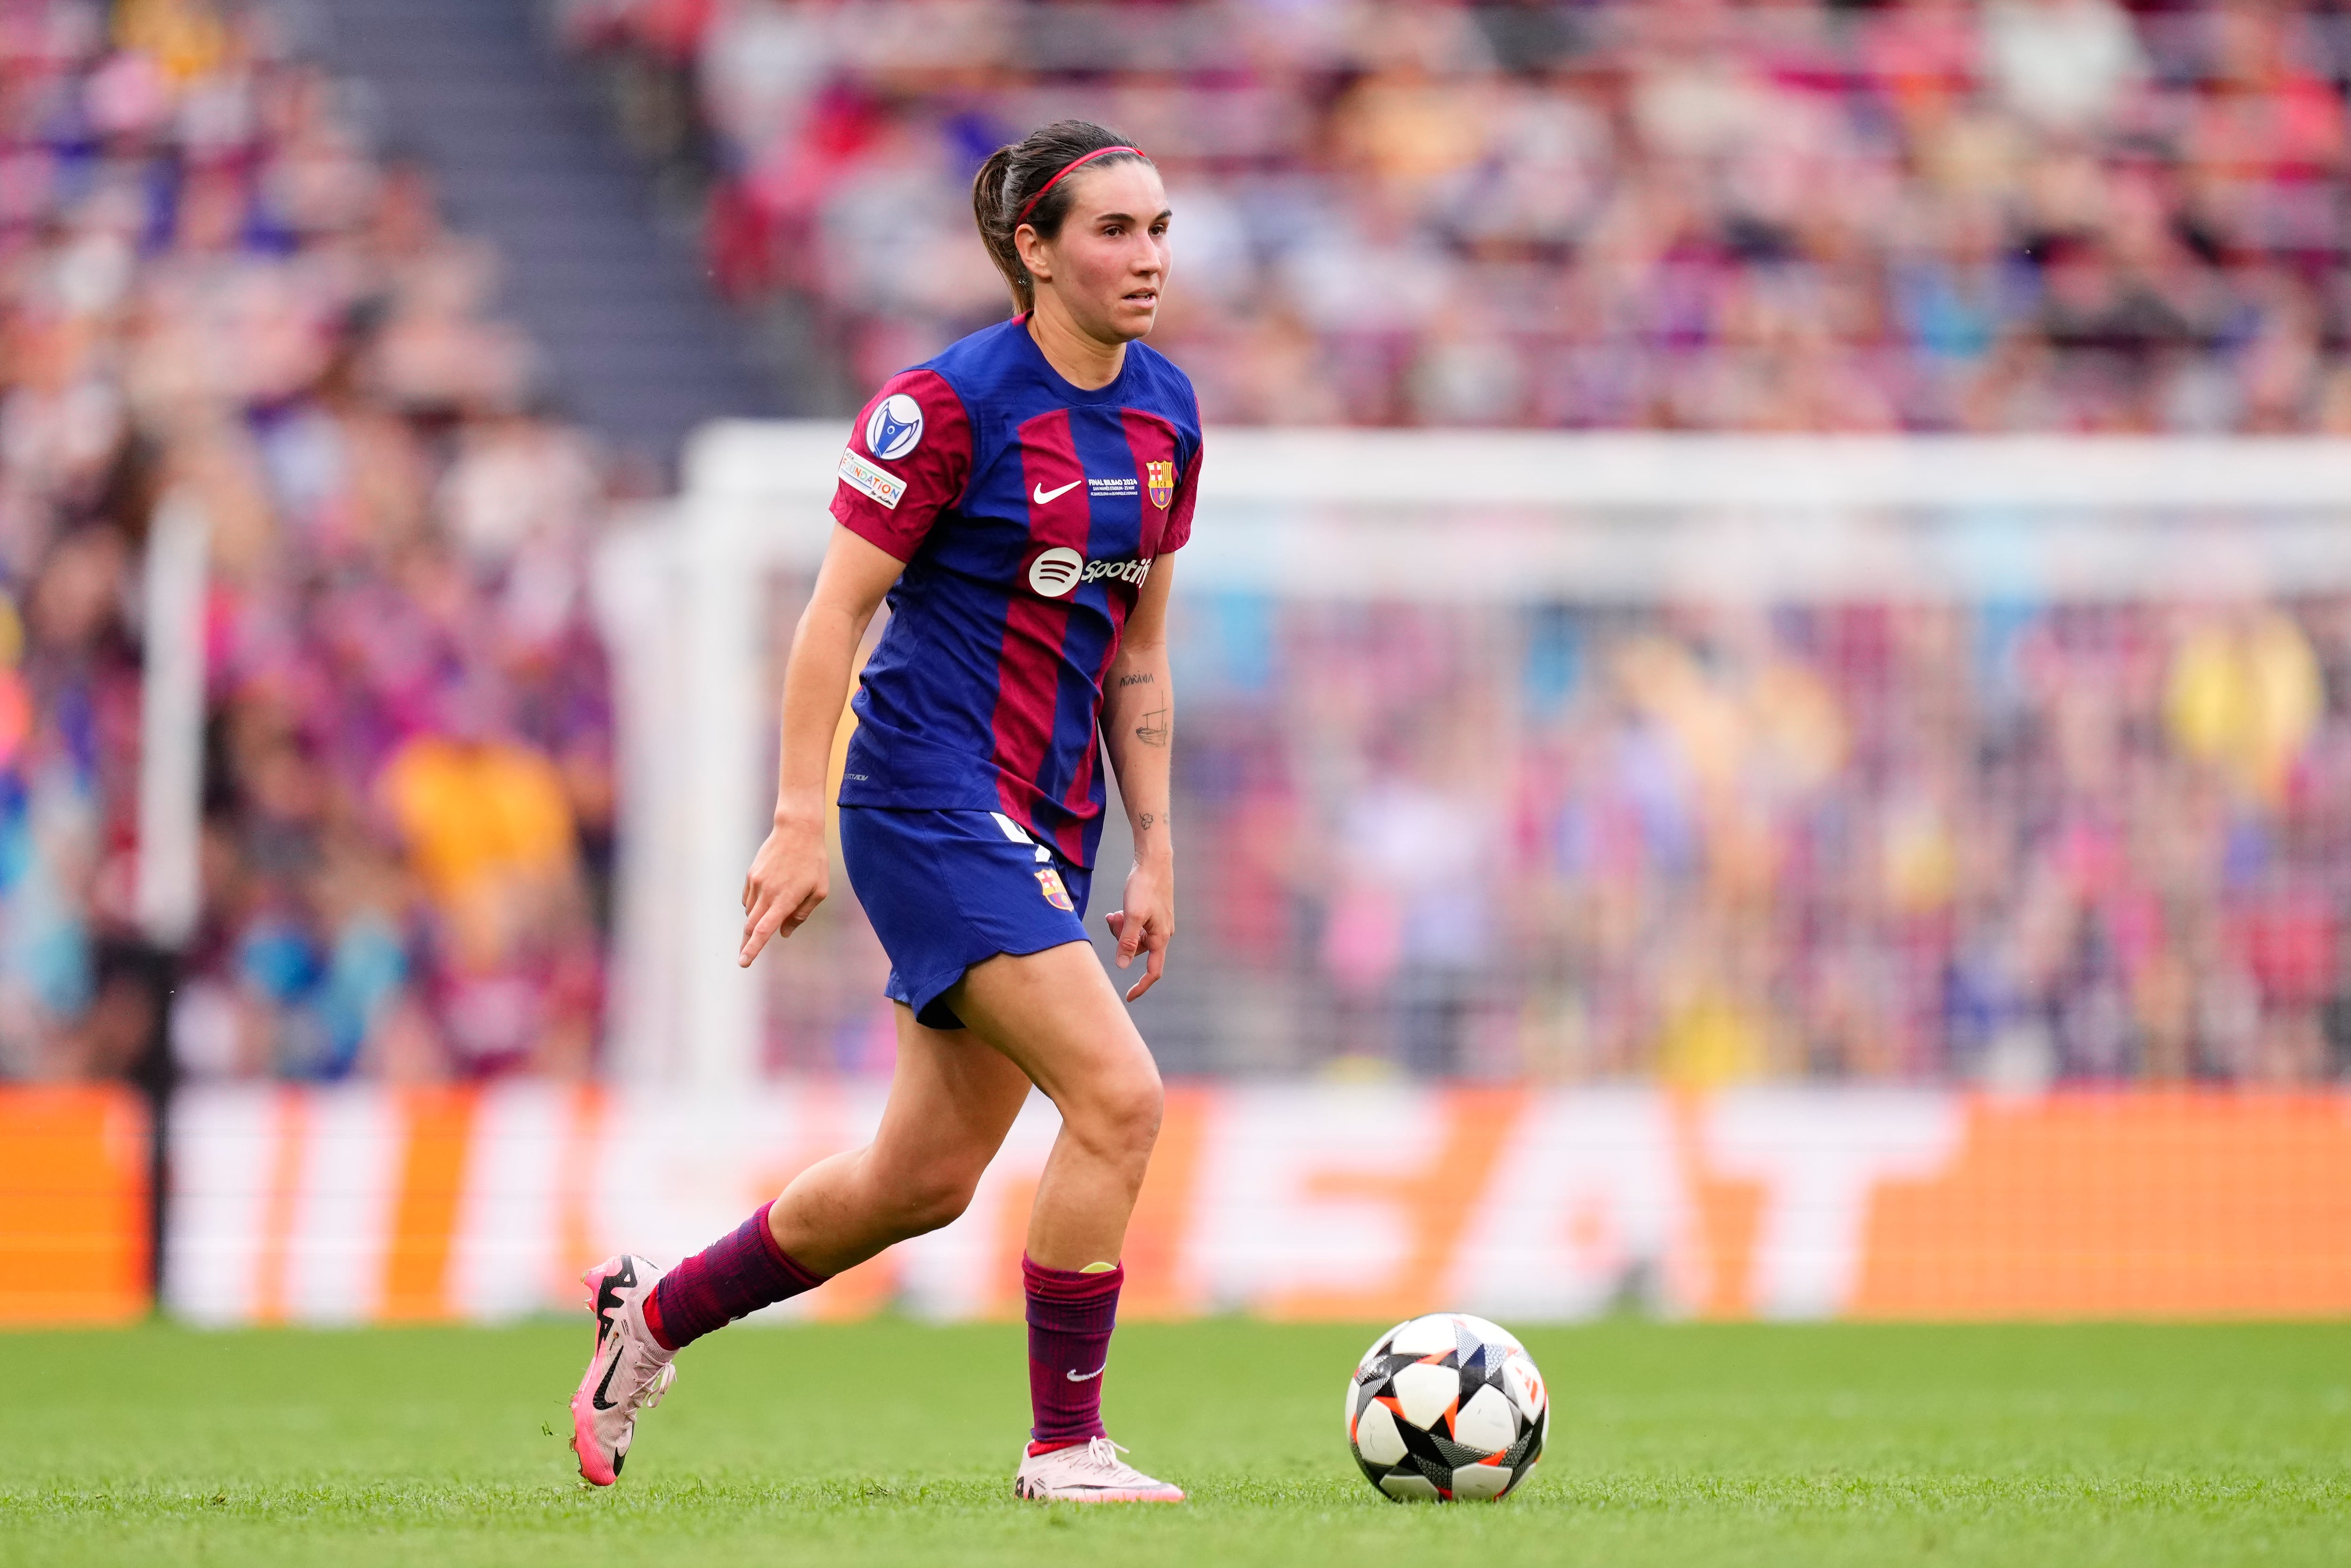
[[[764,583],[820,557],[842,433],[705,428],[677,503],[597,562],[621,1081],[759,1074],[759,990],[734,954],[771,769]],[[1211,430],[1176,581],[1498,604],[2351,590],[2351,442]]]

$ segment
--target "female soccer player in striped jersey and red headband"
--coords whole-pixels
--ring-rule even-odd
[[[783,677],[776,827],[743,882],[743,952],[825,898],[825,769],[851,658],[842,853],[889,950],[898,1067],[882,1128],[731,1237],[658,1269],[588,1272],[595,1356],[571,1396],[581,1474],[611,1486],[672,1356],[964,1213],[1030,1084],[1060,1138],[1030,1213],[1030,1401],[1013,1490],[1180,1502],[1103,1432],[1119,1248],[1159,1133],[1159,1070],[1086,945],[1098,741],[1136,835],[1110,914],[1126,992],[1176,931],[1166,663],[1171,550],[1192,531],[1199,402],[1138,343],[1168,277],[1152,162],[1079,120],[1002,148],[971,186],[1018,315],[893,376],[839,461],[839,527]]]

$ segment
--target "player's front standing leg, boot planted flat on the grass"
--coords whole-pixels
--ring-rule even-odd
[[[1103,1432],[1119,1251],[1159,1138],[1159,1067],[1086,943],[973,964],[950,999],[1060,1110],[1020,1265],[1034,1427],[1013,1486],[1070,1502],[1180,1502]]]

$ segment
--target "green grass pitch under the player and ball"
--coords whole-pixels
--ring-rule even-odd
[[[0,1335],[0,1563],[2346,1563],[2351,1326],[1538,1331],[1552,1448],[1399,1507],[1340,1389],[1375,1326],[1136,1324],[1112,1432],[1185,1507],[1020,1505],[1016,1326],[696,1345],[621,1486],[588,1328]]]

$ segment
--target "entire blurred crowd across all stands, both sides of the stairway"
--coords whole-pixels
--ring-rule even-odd
[[[804,407],[1002,315],[969,174],[1084,113],[1168,176],[1211,421],[2351,428],[2325,9],[545,2]],[[592,1070],[614,468],[496,289],[270,9],[0,0],[0,1079]],[[134,889],[174,505],[181,959]],[[2351,1067],[2351,602],[1192,592],[1176,639],[1171,1072]],[[846,896],[766,969],[776,1067],[886,1063]]]

